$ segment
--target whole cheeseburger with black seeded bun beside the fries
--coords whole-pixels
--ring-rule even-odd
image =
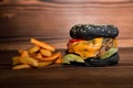
[[[64,65],[111,66],[119,63],[119,29],[109,24],[76,24],[70,30]]]

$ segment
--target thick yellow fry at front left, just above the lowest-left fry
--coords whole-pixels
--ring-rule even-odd
[[[38,62],[37,59],[32,58],[32,57],[19,57],[19,62],[21,64],[27,64],[27,65],[31,65],[33,67],[38,67]]]

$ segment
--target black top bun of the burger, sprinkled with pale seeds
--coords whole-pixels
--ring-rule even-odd
[[[76,24],[70,30],[73,38],[116,37],[119,30],[114,25]]]

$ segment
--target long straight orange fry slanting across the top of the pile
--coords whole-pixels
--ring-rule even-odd
[[[31,43],[35,44],[35,45],[39,45],[41,46],[42,48],[45,48],[45,50],[49,50],[49,51],[55,51],[55,48],[49,44],[47,44],[45,42],[41,42],[41,41],[38,41],[35,38],[31,38]]]

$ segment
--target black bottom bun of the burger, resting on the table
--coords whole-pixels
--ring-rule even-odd
[[[100,59],[100,58],[88,58],[84,63],[76,63],[76,62],[70,62],[70,65],[76,65],[76,66],[88,66],[88,67],[104,67],[104,66],[112,66],[119,63],[120,56],[117,53],[112,55],[109,58]]]

